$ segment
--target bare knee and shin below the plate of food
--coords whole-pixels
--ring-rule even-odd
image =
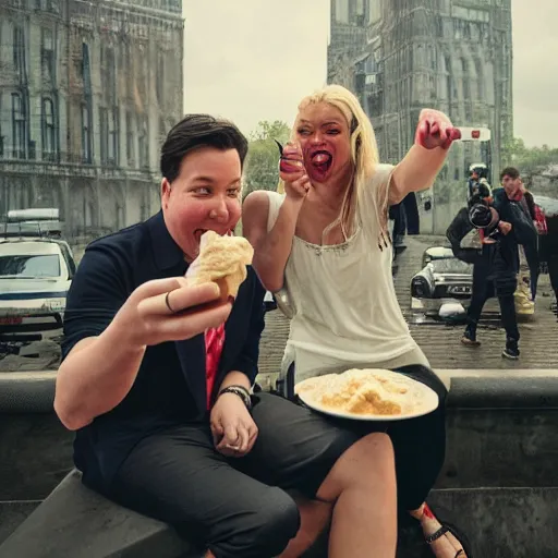
[[[386,434],[369,434],[351,446],[319,487],[317,498],[333,504],[329,558],[396,556],[396,472]]]

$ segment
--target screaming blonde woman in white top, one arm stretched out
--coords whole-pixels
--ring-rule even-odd
[[[459,131],[423,110],[415,144],[396,167],[380,165],[372,124],[356,97],[330,85],[299,106],[277,192],[243,207],[254,267],[291,318],[282,375],[296,381],[357,366],[397,369],[435,389],[440,407],[388,428],[399,506],[421,522],[439,558],[465,558],[464,541],[425,504],[444,463],[446,389],[429,369],[399,307],[391,276],[388,209],[428,187]]]

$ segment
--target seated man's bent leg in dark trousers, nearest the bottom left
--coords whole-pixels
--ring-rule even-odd
[[[233,469],[214,449],[205,424],[141,441],[111,493],[119,504],[174,525],[216,558],[275,557],[300,524],[294,500]]]

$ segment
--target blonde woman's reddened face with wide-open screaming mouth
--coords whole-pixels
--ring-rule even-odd
[[[313,183],[339,182],[352,173],[349,124],[338,108],[317,102],[302,109],[296,119],[296,140]]]

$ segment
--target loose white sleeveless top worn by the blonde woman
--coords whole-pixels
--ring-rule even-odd
[[[276,293],[278,306],[291,319],[282,375],[292,362],[296,381],[357,366],[428,365],[397,301],[392,247],[378,246],[373,196],[387,195],[392,171],[390,165],[378,165],[360,198],[355,232],[347,242],[318,246],[294,236],[284,284]],[[267,194],[270,231],[284,195]]]

